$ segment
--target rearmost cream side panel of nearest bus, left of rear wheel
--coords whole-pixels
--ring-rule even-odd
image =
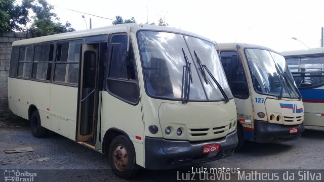
[[[22,118],[28,119],[27,102],[29,98],[29,80],[9,78],[8,79],[8,97],[9,109]],[[11,98],[10,98],[11,97]]]

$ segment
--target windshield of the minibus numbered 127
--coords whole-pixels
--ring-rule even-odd
[[[299,98],[296,84],[283,56],[262,49],[246,49],[252,80],[260,94]]]

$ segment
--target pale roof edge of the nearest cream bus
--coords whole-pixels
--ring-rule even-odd
[[[118,25],[111,25],[111,26],[105,26],[100,28],[93,28],[88,30],[79,30],[79,31],[67,32],[67,33],[60,33],[60,34],[54,34],[54,35],[48,35],[42,37],[28,38],[24,40],[17,40],[14,41],[12,45],[13,46],[24,45],[24,44],[48,42],[54,40],[71,39],[71,38],[86,37],[86,36],[104,35],[104,34],[116,33],[116,32],[127,32],[128,26],[130,27],[130,31],[134,33],[136,33],[138,30],[165,31],[165,32],[186,34],[186,35],[195,36],[201,39],[211,41],[209,38],[197,35],[195,33],[176,29],[176,28],[157,26],[157,25],[128,23],[128,24],[118,24]]]

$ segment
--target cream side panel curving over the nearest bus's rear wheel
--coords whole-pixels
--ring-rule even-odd
[[[30,95],[29,104],[33,104],[36,106],[39,112],[39,117],[41,117],[42,126],[51,129],[51,120],[47,118],[50,116],[47,108],[51,106],[51,86],[50,83],[38,82],[38,81],[30,81],[29,82],[29,92],[32,93]]]

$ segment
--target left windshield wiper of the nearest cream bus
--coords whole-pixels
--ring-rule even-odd
[[[182,104],[184,104],[184,103],[188,103],[189,101],[190,83],[192,83],[192,74],[191,74],[191,67],[190,67],[191,63],[189,63],[188,57],[184,52],[183,48],[182,48],[182,53],[183,53],[184,60],[186,62],[186,65],[182,67],[182,75],[184,76],[184,79],[182,79],[182,94],[184,95]],[[184,81],[184,87],[183,87],[183,81]]]

